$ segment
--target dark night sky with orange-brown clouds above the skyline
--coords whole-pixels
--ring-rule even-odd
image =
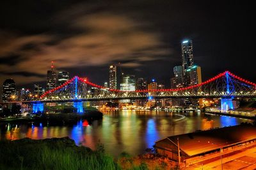
[[[193,40],[203,80],[230,72],[256,82],[253,1],[1,1],[0,83],[58,71],[102,85],[108,67],[170,86],[180,43]],[[2,85],[1,85],[2,86]]]

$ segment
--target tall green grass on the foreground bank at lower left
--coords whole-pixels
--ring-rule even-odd
[[[72,139],[0,141],[0,169],[120,169],[100,150],[76,146]]]

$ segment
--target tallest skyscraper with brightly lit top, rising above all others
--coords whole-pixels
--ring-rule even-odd
[[[192,40],[184,40],[181,43],[181,52],[182,52],[182,70],[183,70],[183,74],[185,74],[186,70],[188,70],[194,65]]]

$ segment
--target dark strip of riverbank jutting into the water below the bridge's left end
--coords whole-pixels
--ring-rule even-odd
[[[77,113],[41,114],[17,118],[0,118],[0,123],[51,123],[51,125],[68,125],[77,123],[79,120],[100,120],[102,112],[88,111]]]

